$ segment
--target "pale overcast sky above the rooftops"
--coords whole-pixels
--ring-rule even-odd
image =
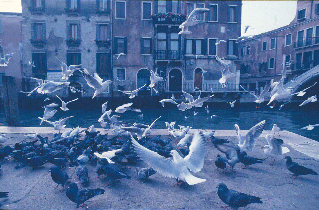
[[[296,13],[297,1],[242,1],[242,34],[257,35],[288,25]],[[0,11],[21,12],[21,0],[0,0]],[[256,28],[256,29],[253,29]]]

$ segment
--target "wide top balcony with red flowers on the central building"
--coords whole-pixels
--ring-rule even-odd
[[[157,13],[151,15],[153,20],[153,24],[182,24],[187,16],[182,13],[172,13],[172,12],[165,12],[165,13]]]

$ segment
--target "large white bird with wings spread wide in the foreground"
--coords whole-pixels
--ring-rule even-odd
[[[171,150],[170,154],[173,156],[173,160],[143,147],[133,136],[131,136],[131,140],[137,156],[162,176],[178,178],[178,180],[182,180],[182,182],[186,182],[189,185],[206,181],[206,179],[197,178],[190,173],[190,171],[194,173],[201,171],[204,165],[207,144],[204,137],[198,132],[193,137],[189,146],[189,154],[186,157],[182,158],[176,150]],[[175,185],[177,184],[178,182]]]

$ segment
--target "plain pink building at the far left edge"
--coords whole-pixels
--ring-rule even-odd
[[[2,98],[1,76],[16,77],[18,90],[22,90],[22,73],[21,56],[19,53],[19,43],[22,44],[21,32],[22,13],[0,12],[0,53],[3,58],[4,54],[14,53],[9,64],[6,67],[0,67],[0,97]]]

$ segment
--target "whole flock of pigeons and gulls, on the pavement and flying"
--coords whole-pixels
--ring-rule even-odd
[[[196,16],[198,14],[202,14],[209,9],[198,8],[193,10],[187,20],[181,24],[180,28],[182,31],[179,34],[190,34],[188,31],[188,27],[197,24]],[[249,27],[249,26],[248,26]],[[246,31],[248,29],[246,28]],[[238,42],[242,39],[246,39],[247,36],[242,36],[238,38]],[[225,42],[224,40],[220,40],[216,45]],[[0,58],[0,64],[8,63],[10,55],[5,55],[4,59]],[[120,56],[120,55],[119,55]],[[233,73],[229,71],[228,65],[223,61],[223,59],[219,58],[217,55],[215,56],[218,65],[221,68],[222,78],[219,80],[220,84],[225,85],[227,80],[235,77]],[[99,97],[100,93],[103,93],[108,85],[112,83],[112,81],[107,80],[104,81],[99,77],[97,73],[91,75],[85,68],[81,70],[81,65],[71,65],[67,66],[61,60],[56,58],[58,62],[60,62],[62,67],[62,79],[68,79],[72,76],[73,72],[78,70],[82,72],[84,79],[87,84],[95,89],[93,97]],[[34,63],[29,62],[29,65],[34,66]],[[158,92],[154,85],[158,81],[162,81],[163,78],[159,77],[156,72],[149,70],[151,73],[151,84],[148,88],[153,88],[155,92]],[[202,76],[206,73],[206,71],[202,71]],[[23,92],[28,95],[38,92],[40,94],[49,94],[53,93],[62,88],[71,88],[72,92],[80,91],[73,87],[70,87],[70,82],[54,82],[48,80],[42,80],[37,78],[32,78],[37,83],[38,86],[34,88],[31,92]],[[271,91],[271,100],[272,101],[283,99],[289,97],[293,93],[293,89],[283,87],[284,79],[282,78],[278,82],[274,82],[271,85],[268,84],[264,88],[263,92],[256,97],[256,104],[260,104],[264,101],[264,95],[272,88]],[[141,87],[144,88],[146,84]],[[124,94],[128,94],[129,98],[132,99],[136,96],[136,93],[141,89],[138,88],[133,91],[121,91]],[[305,89],[306,90],[306,89]],[[297,93],[299,95],[303,95],[305,90]],[[120,91],[120,90],[119,90]],[[194,90],[195,91],[195,90]],[[177,105],[179,110],[185,111],[191,108],[199,108],[203,106],[203,102],[207,101],[213,95],[209,97],[201,98],[200,95],[197,99],[194,99],[193,95],[182,91],[183,97],[186,100],[185,102],[181,102],[178,104],[176,102],[176,98],[174,94],[170,99],[161,100],[161,104],[164,107],[164,102],[170,102]],[[298,96],[298,95],[297,95]],[[56,95],[56,97],[58,97]],[[62,106],[61,110],[67,111],[66,107],[68,103],[72,100],[65,102],[60,97],[58,97]],[[46,99],[49,100],[49,99]],[[46,101],[45,100],[45,101]],[[187,102],[188,101],[188,102]],[[231,107],[234,107],[234,103],[229,102]],[[316,96],[308,98],[308,100],[304,101],[300,106],[308,103],[316,101]],[[159,173],[167,178],[175,178],[176,185],[195,185],[201,182],[206,181],[206,179],[195,177],[192,173],[196,173],[202,170],[204,166],[204,156],[205,150],[207,147],[207,143],[209,139],[213,143],[214,147],[217,150],[221,151],[226,155],[226,157],[222,155],[217,155],[217,159],[215,161],[215,165],[217,169],[223,169],[225,172],[226,163],[231,166],[231,170],[234,171],[234,167],[238,163],[242,163],[242,168],[245,168],[252,164],[260,164],[265,161],[267,157],[274,158],[274,161],[271,165],[274,164],[276,159],[282,157],[283,154],[289,152],[288,148],[282,147],[283,140],[279,138],[271,138],[270,134],[266,135],[266,140],[268,142],[267,145],[262,147],[264,149],[264,154],[267,156],[264,159],[259,159],[255,157],[250,157],[247,154],[251,152],[256,144],[257,138],[262,133],[266,122],[261,121],[249,129],[248,133],[245,136],[241,136],[241,131],[237,124],[234,125],[234,129],[237,134],[238,144],[228,141],[227,139],[217,139],[214,137],[214,131],[212,132],[195,132],[192,140],[190,141],[189,133],[190,127],[187,126],[179,126],[179,129],[175,129],[175,122],[168,123],[166,122],[166,128],[169,132],[169,135],[172,135],[176,139],[177,150],[180,150],[182,156],[179,151],[173,150],[173,145],[171,144],[172,137],[162,139],[160,135],[150,138],[149,135],[152,132],[152,126],[159,119],[157,118],[152,124],[145,125],[141,123],[126,123],[123,121],[119,121],[119,115],[112,115],[112,109],[107,110],[108,102],[102,105],[102,115],[98,120],[101,123],[102,127],[106,127],[107,124],[110,124],[110,127],[113,129],[115,134],[114,137],[110,137],[107,134],[102,135],[99,131],[96,131],[94,126],[90,126],[88,129],[83,129],[81,131],[80,127],[69,129],[63,133],[60,131],[65,127],[64,123],[73,116],[66,117],[64,119],[60,119],[56,122],[50,122],[48,119],[53,117],[58,110],[55,108],[59,105],[57,103],[51,103],[44,107],[43,117],[39,117],[41,119],[41,123],[45,122],[46,124],[52,124],[54,129],[59,131],[54,134],[52,139],[48,139],[48,137],[42,137],[39,134],[26,134],[26,138],[31,140],[27,142],[24,140],[23,142],[16,143],[14,147],[10,147],[9,145],[0,149],[0,159],[1,161],[10,156],[19,164],[15,166],[16,169],[19,169],[23,166],[31,166],[33,168],[40,167],[47,162],[55,165],[50,167],[49,172],[51,172],[52,180],[57,184],[55,189],[58,188],[58,185],[62,185],[62,191],[64,190],[64,185],[69,182],[71,177],[64,172],[62,169],[66,164],[69,164],[69,167],[76,166],[76,175],[80,179],[80,183],[83,186],[87,186],[89,184],[89,171],[85,164],[92,163],[96,165],[96,173],[98,178],[101,175],[108,177],[108,183],[105,185],[110,185],[112,180],[119,180],[121,178],[130,179],[131,176],[128,175],[124,170],[120,169],[119,166],[126,167],[127,165],[135,164],[138,160],[143,160],[146,164],[149,165],[148,168],[139,168],[136,167],[137,176],[145,181],[154,173]],[[114,112],[116,113],[124,113],[126,111],[135,111],[141,112],[139,109],[132,108],[133,103],[126,103],[122,106],[117,107]],[[275,104],[274,104],[275,105]],[[209,113],[208,107],[206,108],[207,113]],[[194,115],[196,112],[194,112]],[[216,115],[212,115],[216,116]],[[128,126],[130,125],[130,126]],[[313,129],[317,125],[309,125],[303,129]],[[274,124],[273,129],[274,135],[278,132],[278,136],[280,129]],[[80,133],[85,131],[84,140],[80,140]],[[122,139],[122,136],[127,136],[128,139]],[[40,140],[38,142],[37,138]],[[6,141],[6,136],[3,134],[0,137],[0,143],[4,143]],[[173,160],[170,159],[173,157]],[[308,169],[300,164],[292,162],[291,157],[286,156],[286,166],[289,171],[293,172],[292,178],[296,178],[299,175],[307,175],[313,174],[318,175],[315,171]],[[0,162],[1,167],[1,162]],[[1,168],[0,168],[1,172]],[[192,172],[192,173],[191,173]],[[218,188],[218,196],[219,198],[227,205],[223,206],[223,208],[227,208],[230,206],[232,209],[238,209],[242,206],[247,206],[251,203],[263,203],[258,197],[251,196],[248,194],[244,194],[241,192],[236,192],[234,190],[228,189],[224,183],[219,183]],[[74,182],[71,182],[68,185],[68,189],[66,190],[66,196],[77,204],[76,208],[85,206],[85,201],[93,198],[94,196],[104,194],[104,189],[85,189],[79,188],[78,185]],[[1,197],[7,197],[8,192],[0,192]],[[82,204],[82,205],[81,205]]]

